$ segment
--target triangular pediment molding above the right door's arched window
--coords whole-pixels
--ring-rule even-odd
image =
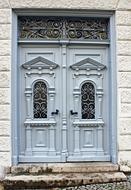
[[[106,68],[102,63],[89,57],[71,65],[70,67],[75,70],[103,70]]]

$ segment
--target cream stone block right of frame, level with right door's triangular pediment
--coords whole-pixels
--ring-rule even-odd
[[[131,71],[131,56],[117,56],[118,70]]]

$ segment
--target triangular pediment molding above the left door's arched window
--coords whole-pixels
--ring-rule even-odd
[[[44,57],[38,56],[26,63],[22,64],[24,69],[55,69],[58,67],[58,64],[45,59]]]

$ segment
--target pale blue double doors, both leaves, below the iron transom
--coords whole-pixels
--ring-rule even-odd
[[[21,45],[19,162],[110,161],[106,46]]]

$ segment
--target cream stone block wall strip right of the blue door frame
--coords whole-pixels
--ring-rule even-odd
[[[131,170],[131,1],[121,0],[116,11],[118,68],[118,149],[121,169]]]

